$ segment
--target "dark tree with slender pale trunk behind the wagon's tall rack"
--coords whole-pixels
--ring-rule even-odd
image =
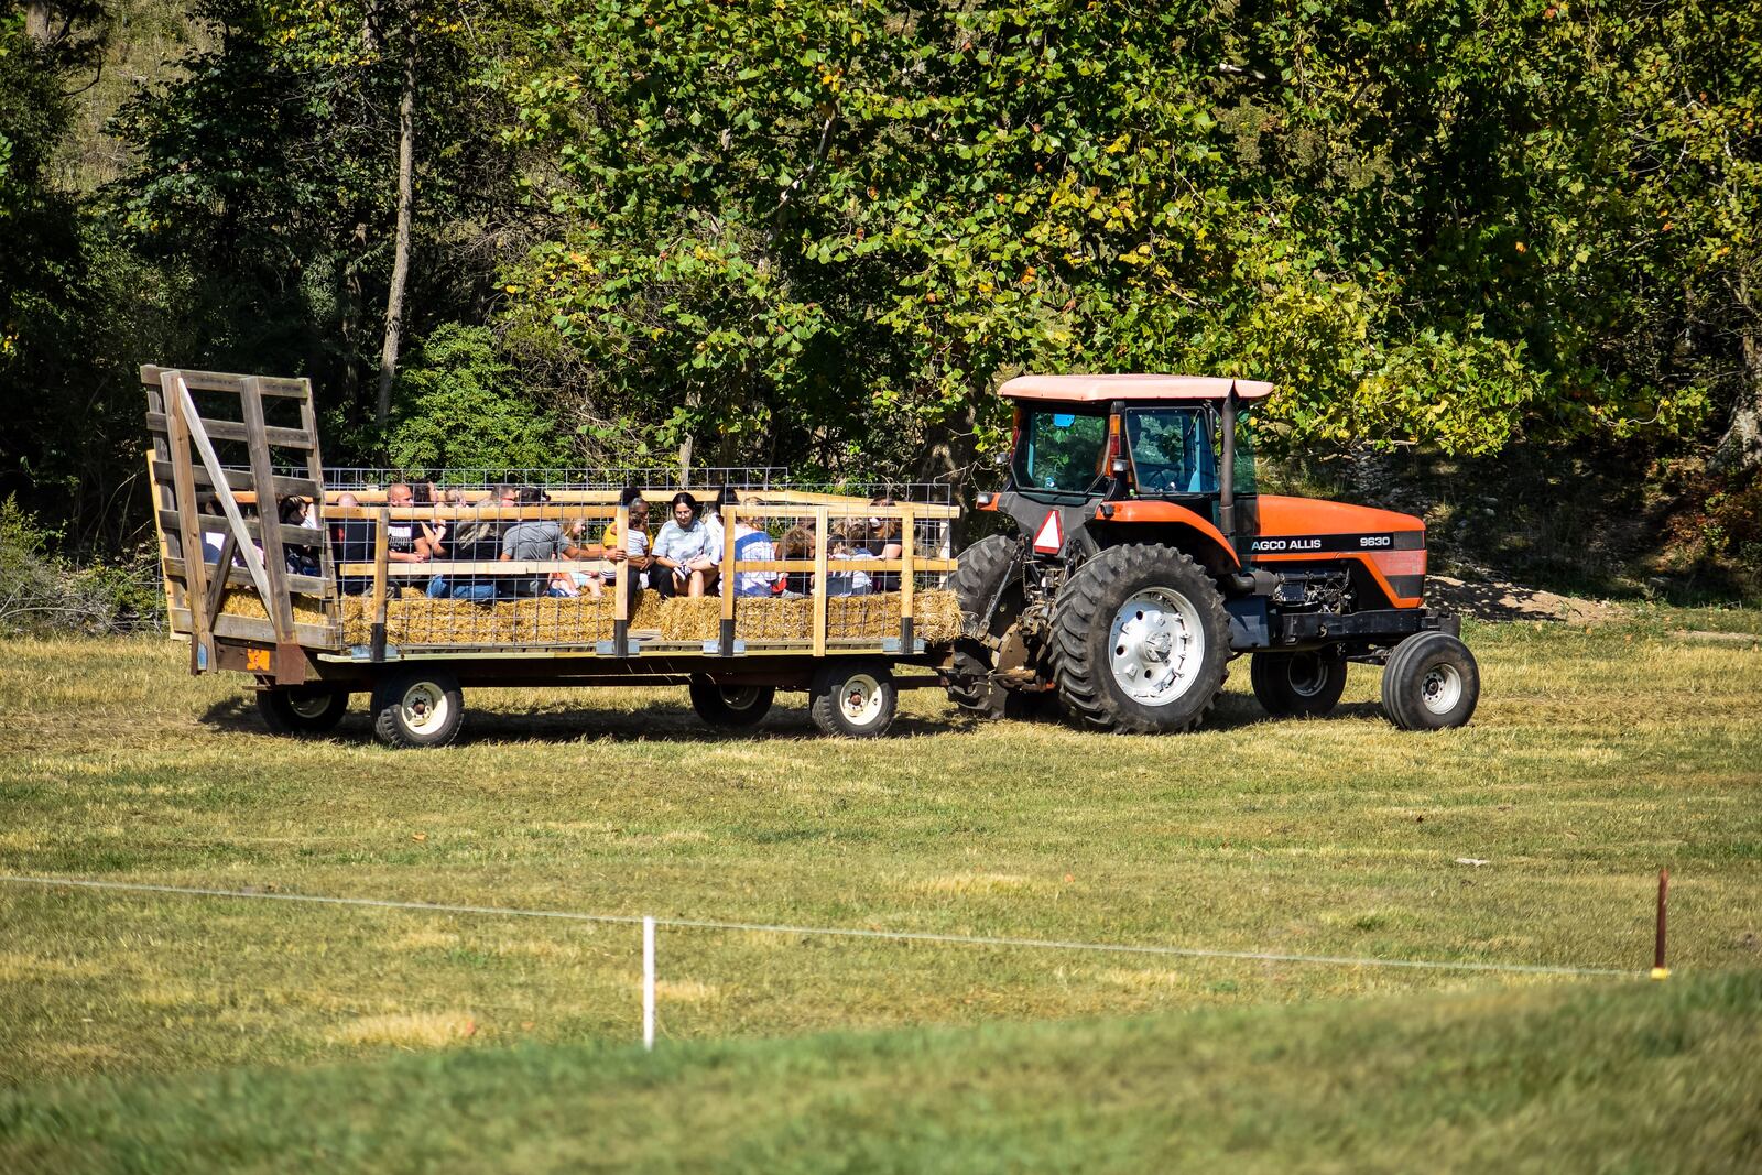
[[[375,449],[359,425],[384,425],[400,336],[485,314],[520,201],[483,85],[507,11],[201,0],[197,12],[213,49],[120,120],[139,151],[122,185],[134,240],[199,278],[190,315],[206,344],[178,361],[312,373],[340,435]]]

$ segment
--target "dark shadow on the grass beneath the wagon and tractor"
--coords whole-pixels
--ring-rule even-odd
[[[641,708],[629,706],[585,706],[585,705],[544,705],[530,710],[518,708],[472,708],[470,692],[465,691],[465,724],[455,745],[493,743],[493,742],[555,742],[571,743],[594,738],[611,738],[617,742],[680,742],[712,743],[737,742],[751,738],[819,738],[819,729],[807,715],[807,696],[802,692],[779,692],[777,705],[765,715],[765,721],[752,729],[728,731],[703,722],[689,705],[680,705],[670,698],[657,696],[652,705]],[[589,692],[589,691],[580,691]],[[657,694],[663,687],[657,687]],[[1218,706],[1205,719],[1202,731],[1230,731],[1262,722],[1330,722],[1348,719],[1374,719],[1381,715],[1376,703],[1353,703],[1336,708],[1323,719],[1274,719],[1258,701],[1244,694],[1225,694]],[[217,701],[201,715],[199,722],[213,731],[236,735],[268,735],[268,728],[257,715],[257,706],[248,698],[229,698]],[[946,713],[922,715],[902,713],[888,728],[886,738],[918,738],[929,735],[971,735],[983,728],[996,726],[1003,719],[981,719],[950,708]],[[1070,724],[1052,706],[1043,717],[1011,719],[1033,726]],[[354,698],[349,715],[328,735],[338,742],[372,742],[372,719],[366,713],[363,698]]]

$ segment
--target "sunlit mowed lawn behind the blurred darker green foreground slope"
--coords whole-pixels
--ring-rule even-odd
[[[1644,971],[1656,870],[1670,867],[1677,974],[1665,985],[663,930],[661,1050],[684,1066],[668,1080],[687,1087],[738,1083],[742,1066],[752,1080],[811,1076],[812,1041],[828,1057],[855,1053],[851,1071],[886,1069],[892,1050],[1003,1048],[1054,1080],[1061,1050],[1080,1053],[1099,1032],[1121,1080],[1142,1062],[1144,1080],[1161,1082],[1168,1048],[1216,1050],[1232,1032],[1355,1039],[1390,1015],[1491,1024],[1508,1008],[1577,1016],[1591,1039],[1584,1009],[1598,1001],[1646,1020],[1644,1001],[1683,988],[1670,1006],[1693,1009],[1660,1031],[1693,1022],[1716,1052],[1748,1039],[1720,1064],[1737,1064],[1762,1101],[1757,613],[1471,627],[1468,639],[1480,712],[1436,735],[1392,729],[1367,668],[1353,668],[1334,717],[1269,721],[1237,662],[1216,719],[1179,738],[978,724],[934,691],[906,694],[893,736],[876,742],[818,738],[798,696],[756,735],[724,736],[684,691],[483,691],[467,694],[463,742],[440,752],[384,750],[363,713],[329,740],[273,738],[240,678],[187,676],[187,652],[169,641],[11,643],[0,872]],[[412,1066],[430,1062],[398,1060],[409,1052],[439,1050],[435,1066],[483,1080],[495,1066],[530,1076],[560,1064],[589,1083],[589,1071],[634,1073],[643,1062],[624,1050],[638,1032],[638,971],[631,927],[0,884],[0,1083],[14,1087],[0,1142],[23,1131],[18,1156],[70,1161],[30,1142],[42,1113],[62,1122],[70,1106],[122,1097],[144,1115],[134,1120],[157,1119],[166,1090],[220,1097],[201,1073],[231,1066],[344,1066],[317,1085],[277,1078],[296,1099],[356,1097],[344,1090],[372,1085],[368,1075],[418,1080],[426,1069]],[[1309,1001],[1343,1002],[1263,1008]],[[959,1031],[1098,1016],[1108,1020],[1089,1029]],[[909,1025],[944,1027],[883,1043],[721,1039]],[[1418,1038],[1390,1039],[1399,1055],[1425,1052]],[[1043,1059],[1025,1055],[1040,1048]],[[694,1057],[708,1068],[691,1076]],[[948,1076],[944,1062],[923,1064],[913,1082]],[[155,1075],[173,1085],[139,1083]],[[92,1076],[122,1085],[100,1096],[65,1083]],[[1596,1085],[1595,1073],[1575,1080]],[[840,1085],[839,1105],[862,1117],[870,1085],[885,1085],[879,1069]],[[1686,1096],[1681,1082],[1669,1089]],[[1607,1113],[1625,1105],[1610,1096]],[[925,1129],[951,1129],[932,1119]],[[1050,1152],[1041,1161],[1057,1166]]]

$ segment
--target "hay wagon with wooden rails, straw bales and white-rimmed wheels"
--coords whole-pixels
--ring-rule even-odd
[[[592,569],[495,553],[502,528],[530,520],[611,525],[622,550],[631,507],[615,488],[553,483],[544,500],[511,504],[442,476],[437,500],[393,502],[382,477],[326,477],[305,379],[143,366],[141,382],[173,636],[189,641],[192,673],[255,678],[257,706],[282,733],[335,728],[358,692],[372,698],[381,742],[421,747],[453,740],[465,687],[685,685],[712,726],[751,726],[777,691],[807,691],[823,731],[872,736],[900,689],[941,684],[934,669],[960,627],[943,587],[959,516],[946,502],[740,490],[721,507],[724,536],[768,544],[793,521],[795,546],[724,541],[707,569],[719,595],[659,599],[629,590],[627,558]],[[310,509],[292,518],[289,502]],[[837,537],[865,525],[892,536],[885,557],[848,558]],[[411,558],[416,530],[474,543]],[[779,576],[802,590],[728,590]],[[580,594],[550,595],[550,583]]]

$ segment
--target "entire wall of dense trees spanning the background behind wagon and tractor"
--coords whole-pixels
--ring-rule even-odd
[[[33,509],[123,491],[143,359],[314,375],[335,460],[929,476],[999,442],[1013,372],[1188,370],[1281,384],[1302,451],[1762,462],[1753,5],[192,7],[99,194],[48,162],[100,0],[0,21],[0,381],[56,389],[0,423]]]

